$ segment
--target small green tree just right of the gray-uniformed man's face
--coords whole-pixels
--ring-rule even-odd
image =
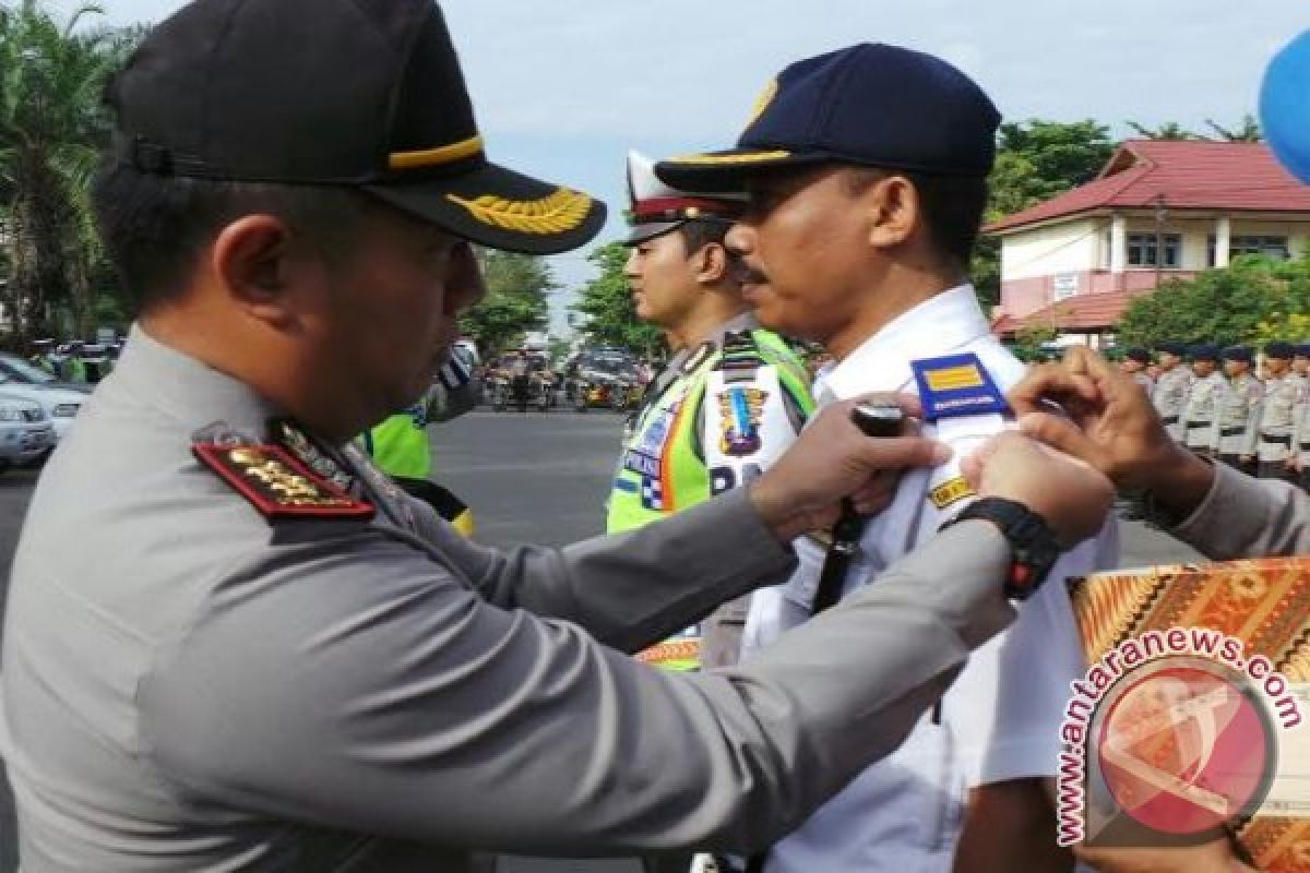
[[[477,254],[487,293],[464,315],[464,330],[486,359],[521,342],[527,331],[545,327],[549,294],[559,285],[541,258],[491,249]]]

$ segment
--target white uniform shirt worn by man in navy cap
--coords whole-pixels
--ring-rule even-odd
[[[972,352],[1001,391],[1024,366],[992,336],[972,287],[943,292],[887,325],[815,382],[819,403],[869,391],[916,391],[912,360]],[[1000,415],[943,419],[927,433],[955,457],[907,474],[892,505],[872,518],[846,579],[850,590],[931,537],[968,504],[959,462],[1005,428]],[[756,592],[745,657],[810,616],[824,548],[796,543],[800,567],[787,585]],[[769,855],[768,873],[950,870],[971,785],[1053,776],[1069,683],[1083,673],[1064,579],[1117,563],[1112,521],[1066,554],[1007,632],[975,652],[946,694],[941,724],[926,713],[905,743],[866,770]]]

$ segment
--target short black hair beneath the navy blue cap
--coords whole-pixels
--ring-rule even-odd
[[[850,170],[845,178],[846,188],[852,194],[863,194],[876,182],[892,175],[909,179],[918,192],[924,224],[927,226],[933,247],[960,268],[968,268],[979,232],[982,229],[982,213],[986,209],[985,177],[934,175],[865,166],[852,166]]]

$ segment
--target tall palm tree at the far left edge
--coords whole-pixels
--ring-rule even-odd
[[[24,0],[0,16],[0,203],[18,342],[48,330],[60,305],[77,335],[92,327],[88,191],[110,130],[101,93],[118,62],[111,31],[77,31],[96,14],[84,5],[60,26]]]

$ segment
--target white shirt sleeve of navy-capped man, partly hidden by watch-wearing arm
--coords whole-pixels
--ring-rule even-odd
[[[960,461],[1002,427],[994,415],[937,425],[937,438],[955,454],[929,479],[921,539],[976,499],[960,475]],[[1117,552],[1117,530],[1107,520],[1098,537],[1061,556],[1038,593],[1019,606],[1014,627],[969,660],[943,703],[969,784],[1055,775],[1069,683],[1085,669],[1065,580],[1115,567]],[[1034,664],[1041,669],[1034,670]]]

